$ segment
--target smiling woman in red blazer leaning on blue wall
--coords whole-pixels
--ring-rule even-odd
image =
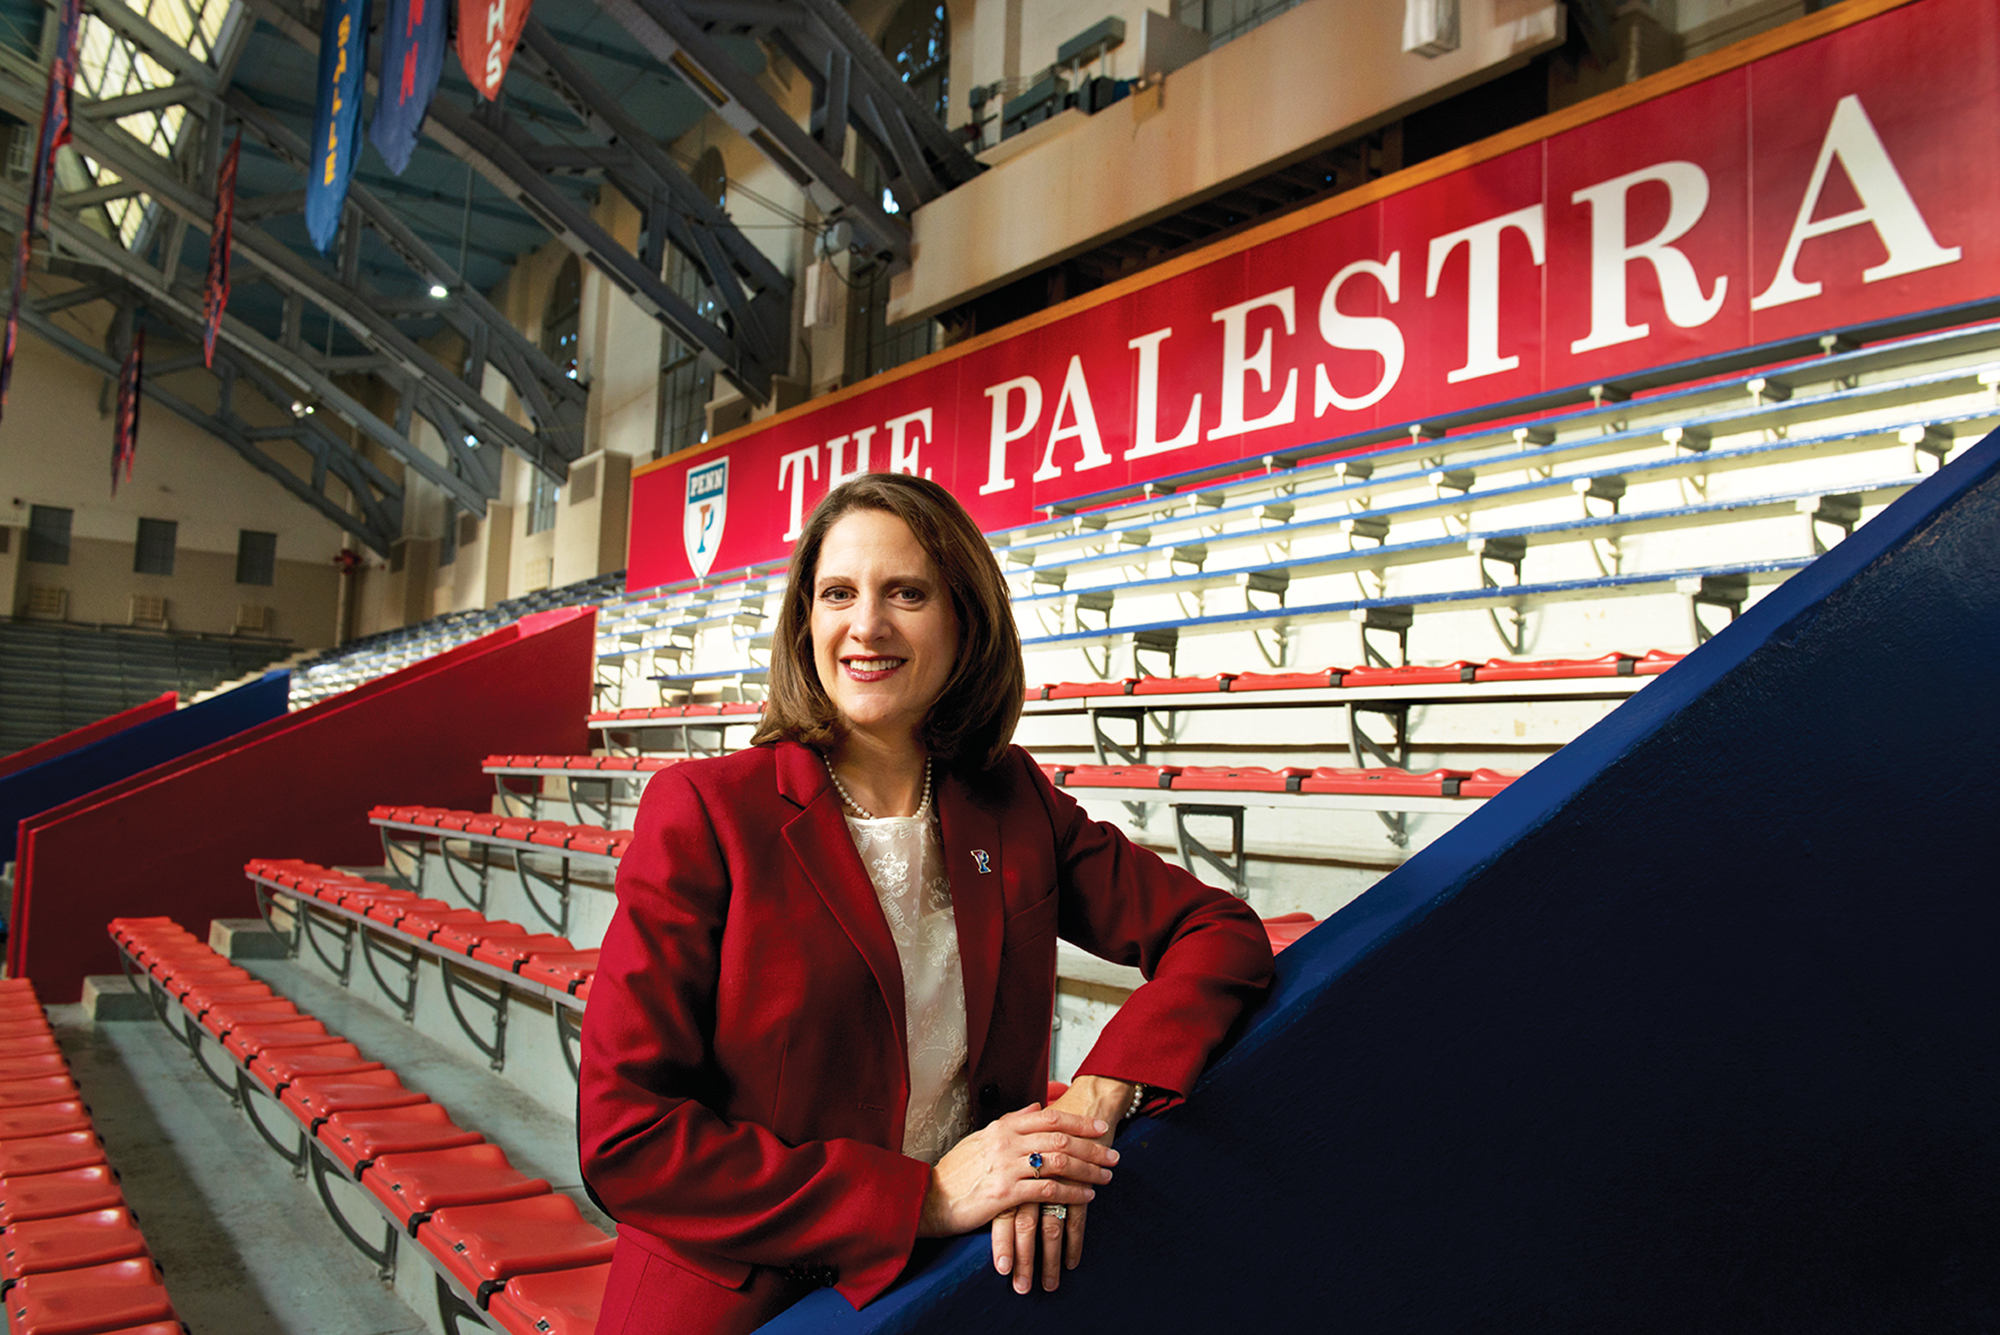
[[[918,1237],[984,1227],[1016,1291],[1054,1289],[1118,1121],[1176,1103],[1262,995],[1250,909],[1050,785],[1020,701],[950,492],[836,488],[752,747],[658,773],[618,871],[578,1091],[620,1225],[600,1333],[748,1331],[820,1285],[860,1307]],[[1150,981],[1044,1109],[1058,935]]]

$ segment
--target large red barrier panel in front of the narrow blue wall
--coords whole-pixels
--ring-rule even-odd
[[[116,969],[112,917],[248,917],[250,857],[376,865],[370,805],[482,807],[488,753],[586,749],[594,638],[540,612],[22,821],[10,973],[70,1001]]]

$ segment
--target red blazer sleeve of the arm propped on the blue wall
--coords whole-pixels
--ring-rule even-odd
[[[1058,933],[1146,975],[1078,1073],[1144,1083],[1152,1109],[1178,1103],[1270,987],[1264,923],[1242,899],[1090,819],[1022,759],[1056,833]]]

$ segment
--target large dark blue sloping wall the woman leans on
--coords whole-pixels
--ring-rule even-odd
[[[2000,434],[1278,975],[1058,1293],[766,1329],[2000,1327]]]

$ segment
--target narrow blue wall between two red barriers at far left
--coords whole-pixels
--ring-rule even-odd
[[[256,681],[232,691],[0,777],[0,831],[6,831],[0,835],[6,839],[6,849],[0,855],[14,861],[14,839],[22,819],[142,769],[162,765],[210,741],[222,741],[254,723],[280,717],[290,693],[290,671],[266,671]]]

